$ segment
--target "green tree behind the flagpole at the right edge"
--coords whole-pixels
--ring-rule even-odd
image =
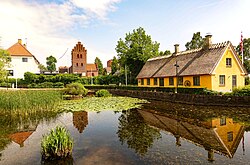
[[[244,56],[244,67],[246,68],[247,72],[250,72],[250,38],[244,38],[243,39],[243,56]],[[241,54],[241,49],[240,49],[240,43],[239,45],[236,47],[236,52],[238,53],[238,55],[240,56],[241,60],[242,60],[242,54]]]

